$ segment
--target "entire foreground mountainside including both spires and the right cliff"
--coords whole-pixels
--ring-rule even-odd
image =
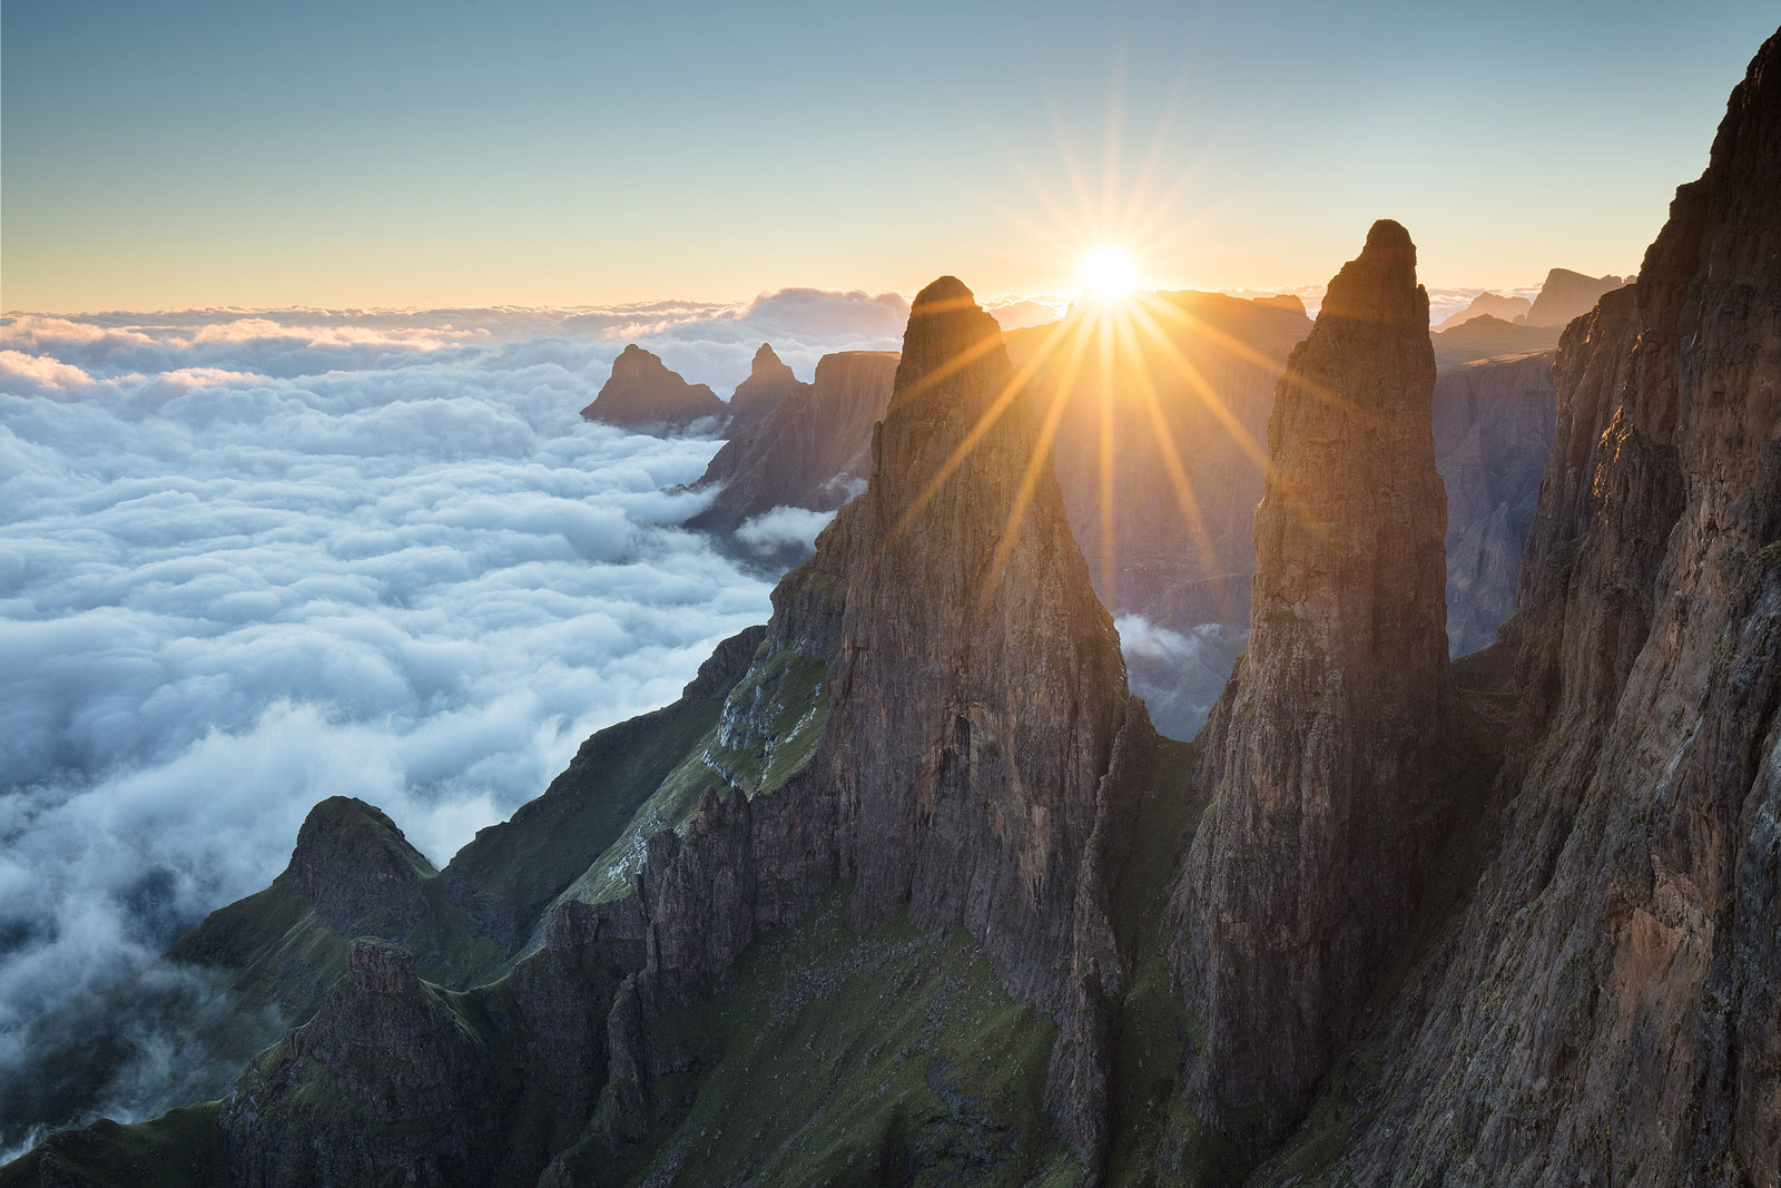
[[[1462,661],[1434,427],[1485,381],[1437,401],[1414,260],[1375,224],[1282,367],[1191,748],[942,278],[768,625],[442,871],[317,805],[173,955],[289,1029],[0,1183],[1781,1183],[1781,34],[1564,330]]]

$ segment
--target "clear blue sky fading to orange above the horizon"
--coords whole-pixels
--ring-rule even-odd
[[[1770,0],[7,0],[0,308],[1637,269]],[[1143,224],[1143,226],[1140,226]]]

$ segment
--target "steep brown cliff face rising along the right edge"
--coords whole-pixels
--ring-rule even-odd
[[[1359,1183],[1777,1183],[1781,34],[1565,330],[1475,891],[1366,1037]],[[1512,752],[1516,753],[1516,752]],[[1284,1174],[1282,1174],[1284,1179]]]

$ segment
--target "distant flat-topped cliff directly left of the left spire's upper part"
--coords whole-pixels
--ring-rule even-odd
[[[687,527],[734,533],[773,508],[834,511],[866,488],[873,426],[890,403],[894,351],[841,351],[816,365],[771,413],[732,433],[700,477],[720,486]]]

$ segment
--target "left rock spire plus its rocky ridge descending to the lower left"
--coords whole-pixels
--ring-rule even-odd
[[[1049,1111],[1097,1158],[1122,976],[1110,821],[1134,794],[1110,771],[1117,752],[1140,768],[1154,736],[1017,397],[971,292],[923,290],[867,493],[780,582],[768,627],[687,686],[689,702],[721,693],[716,723],[611,844],[554,787],[452,862],[447,903],[493,937],[557,885],[527,866],[586,867],[499,981],[445,994],[406,953],[356,942],[349,976],[224,1099],[237,1181],[406,1165],[419,1183],[531,1183],[550,1163],[573,1183],[582,1156],[565,1147],[641,1158],[684,1111],[659,1083],[691,1058],[661,1021],[723,990],[762,928],[837,882],[857,928],[905,912],[962,926],[1004,994],[1065,1021]],[[540,1110],[549,1135],[488,1142]]]

